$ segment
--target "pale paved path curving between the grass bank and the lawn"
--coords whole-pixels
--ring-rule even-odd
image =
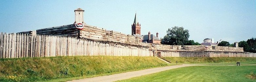
[[[256,65],[256,64],[253,64],[253,65]],[[79,79],[79,80],[72,80],[68,82],[113,82],[117,80],[129,79],[132,77],[138,77],[138,76],[147,75],[151,73],[162,72],[170,69],[188,67],[188,66],[205,66],[205,65],[182,64],[182,65],[167,66],[167,67],[160,67],[160,68],[151,68],[151,69],[145,69],[145,70],[139,70],[139,71],[133,71],[133,72],[124,72],[124,73],[113,74],[113,75],[85,78],[85,79]]]

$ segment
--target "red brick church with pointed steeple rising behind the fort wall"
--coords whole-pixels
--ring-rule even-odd
[[[150,31],[148,32],[147,35],[141,35],[140,31],[141,31],[140,24],[137,20],[136,13],[135,13],[134,22],[132,24],[132,35],[140,38],[143,43],[161,44],[161,39],[159,39],[159,37],[158,37],[158,32],[157,32],[157,36],[155,36],[154,34],[150,34]]]

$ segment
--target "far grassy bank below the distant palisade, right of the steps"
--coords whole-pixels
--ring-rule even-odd
[[[181,64],[217,64],[230,65],[241,62],[240,64],[256,64],[256,58],[252,57],[164,57],[172,63]]]

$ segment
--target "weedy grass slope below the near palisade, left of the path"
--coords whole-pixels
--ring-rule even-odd
[[[0,81],[43,81],[167,65],[156,57],[69,56],[0,59]]]

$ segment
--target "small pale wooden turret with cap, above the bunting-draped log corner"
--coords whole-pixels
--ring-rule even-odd
[[[84,23],[84,10],[81,8],[78,8],[75,10],[75,24],[77,23]]]

